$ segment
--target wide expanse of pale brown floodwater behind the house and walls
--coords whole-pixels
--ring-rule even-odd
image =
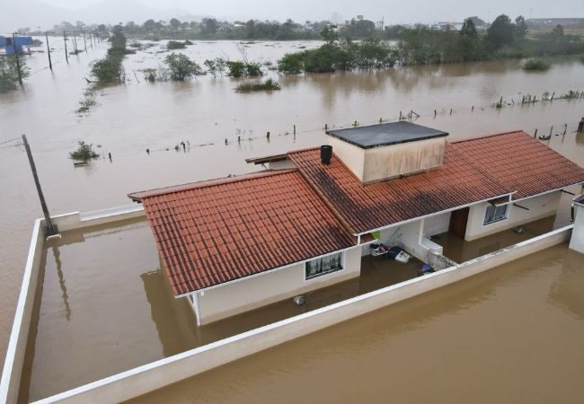
[[[539,97],[545,91],[584,90],[584,65],[577,59],[557,59],[549,71],[535,74],[522,71],[518,60],[509,60],[280,76],[279,92],[240,94],[234,92],[234,87],[241,80],[227,77],[204,76],[187,83],[145,83],[138,70],[160,63],[164,53],[156,53],[161,50],[157,45],[158,48],[128,56],[124,62],[128,83],[99,91],[96,97],[99,105],[88,115],[79,116],[75,110],[86,85],[84,77],[91,61],[104,55],[107,44],[70,57],[66,65],[59,48],[62,42],[58,39],[49,42],[55,48],[53,60],[58,62],[53,72],[43,69],[47,65],[46,54],[26,57],[31,78],[23,89],[0,95],[0,143],[22,133],[28,136],[53,215],[124,205],[128,203],[128,192],[139,189],[253,171],[257,167],[246,165],[245,158],[320,145],[325,123],[330,127],[349,126],[355,120],[360,124],[374,123],[380,118],[397,119],[400,111],[410,110],[421,115],[418,123],[447,130],[452,138],[518,128],[529,133],[538,128],[539,133],[548,133],[551,126],[554,135],[561,135],[567,123],[566,136],[553,136],[546,143],[584,164],[584,137],[574,134],[582,115],[582,101],[553,101],[526,107],[517,103],[526,93]],[[251,58],[275,61],[286,52],[316,45],[257,42],[246,49]],[[238,57],[234,41],[196,42],[185,52],[199,64],[207,57]],[[514,100],[515,105],[492,108],[501,95],[509,102]],[[293,125],[296,136],[292,134]],[[270,140],[265,137],[268,131]],[[238,136],[241,143],[236,141]],[[92,143],[102,153],[111,153],[112,161],[99,159],[87,167],[74,168],[67,156],[80,140]],[[173,149],[181,141],[188,142],[186,153]],[[10,144],[0,145],[3,360],[32,222],[41,216],[26,155],[21,147],[7,145]],[[150,154],[146,154],[146,148],[151,150]],[[101,262],[99,251],[95,262]],[[150,269],[153,268],[144,268],[141,273]],[[67,285],[67,294],[80,293],[83,288],[77,292],[75,288],[81,287]],[[84,287],[91,287],[91,279]],[[144,287],[140,293],[144,294]],[[133,298],[141,302],[136,296]],[[74,315],[75,311],[72,312]],[[102,333],[108,334],[108,330]],[[93,338],[90,336],[85,342],[88,340]]]

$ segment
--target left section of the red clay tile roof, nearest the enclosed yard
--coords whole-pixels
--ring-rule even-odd
[[[296,170],[137,192],[176,295],[355,244]]]

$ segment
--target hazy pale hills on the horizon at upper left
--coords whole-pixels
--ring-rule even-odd
[[[12,3],[12,4],[11,4]],[[152,18],[167,21],[173,17],[181,21],[200,21],[202,16],[192,15],[185,10],[169,8],[159,10],[140,4],[137,0],[104,0],[79,10],[66,10],[39,0],[20,0],[2,5],[0,32],[10,32],[30,27],[33,30],[50,29],[59,22],[83,21],[86,24],[133,21],[141,24]]]

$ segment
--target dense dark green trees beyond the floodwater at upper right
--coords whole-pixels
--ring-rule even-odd
[[[582,37],[566,35],[561,25],[545,34],[529,35],[522,16],[512,22],[505,14],[498,16],[483,32],[477,30],[473,17],[465,19],[460,31],[403,27],[394,32],[395,44],[375,36],[356,42],[350,37],[341,37],[329,27],[325,27],[321,35],[325,40],[321,47],[286,54],[279,60],[279,71],[288,74],[334,72],[395,64],[429,65],[584,54]]]

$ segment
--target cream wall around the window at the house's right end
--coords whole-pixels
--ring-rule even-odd
[[[507,219],[491,224],[482,224],[484,214],[489,206],[488,202],[473,205],[468,213],[468,223],[466,225],[465,240],[472,240],[484,237],[486,235],[501,232],[520,224],[533,222],[544,217],[555,215],[560,204],[562,192],[551,192],[539,197],[521,200],[518,205],[525,206],[529,210],[522,209],[518,206],[509,205]]]

